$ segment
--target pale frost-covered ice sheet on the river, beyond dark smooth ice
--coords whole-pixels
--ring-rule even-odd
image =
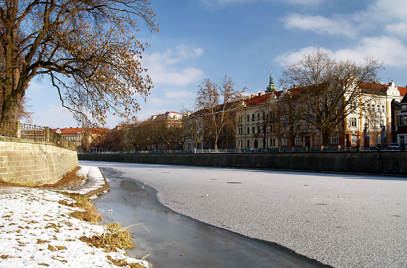
[[[80,164],[111,169],[153,187],[160,202],[173,211],[334,267],[407,266],[405,178]]]

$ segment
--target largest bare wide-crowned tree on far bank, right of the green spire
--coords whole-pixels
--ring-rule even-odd
[[[303,124],[318,129],[327,145],[338,124],[359,107],[354,104],[370,102],[378,93],[372,88],[365,94],[360,85],[376,81],[382,68],[383,63],[372,57],[366,57],[364,63],[338,61],[318,49],[298,62],[286,64],[280,83],[300,88],[308,109]]]

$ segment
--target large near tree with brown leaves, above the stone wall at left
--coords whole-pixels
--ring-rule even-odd
[[[17,121],[37,75],[51,79],[63,107],[94,122],[137,111],[135,94],[152,87],[139,61],[146,44],[134,38],[140,17],[158,31],[149,0],[2,0],[1,120]]]

